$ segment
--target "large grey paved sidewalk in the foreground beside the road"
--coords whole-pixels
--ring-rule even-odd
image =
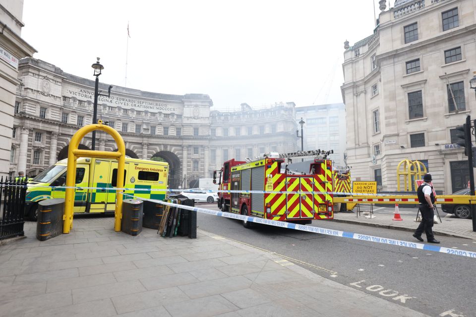
[[[113,218],[0,246],[0,316],[423,317],[274,254],[205,231],[198,239],[114,232]]]

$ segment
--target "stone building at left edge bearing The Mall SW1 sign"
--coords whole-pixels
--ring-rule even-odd
[[[18,60],[35,49],[21,38],[23,0],[0,0],[0,177],[8,175],[11,159],[13,115],[18,112],[15,94],[20,85]]]

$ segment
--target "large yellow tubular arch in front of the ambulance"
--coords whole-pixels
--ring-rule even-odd
[[[76,183],[76,160],[79,157],[118,160],[118,187],[124,185],[125,144],[119,132],[110,126],[103,125],[102,120],[97,124],[89,124],[74,133],[68,148],[68,166],[66,169],[66,192],[64,195],[63,233],[69,233],[73,227],[74,186]],[[117,152],[78,150],[79,143],[89,132],[101,130],[111,135],[118,146]],[[114,212],[114,230],[120,231],[122,218],[122,190],[116,191],[116,210]]]

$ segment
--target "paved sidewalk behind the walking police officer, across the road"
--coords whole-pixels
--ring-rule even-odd
[[[401,214],[402,221],[392,220],[393,212],[388,214],[374,213],[375,218],[365,218],[363,211],[360,215],[356,216],[357,211],[354,213],[337,212],[334,213],[334,221],[346,222],[354,224],[364,224],[369,226],[385,227],[391,229],[400,229],[407,231],[415,231],[419,223],[415,222],[415,215]],[[445,214],[440,212],[441,214]],[[435,223],[433,225],[433,232],[440,235],[448,235],[454,237],[476,239],[476,232],[473,232],[473,222],[471,219],[458,219],[441,217],[441,223]]]

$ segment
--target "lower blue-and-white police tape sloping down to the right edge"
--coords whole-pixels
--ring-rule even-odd
[[[456,250],[456,249],[453,249],[453,248],[439,247],[439,246],[435,246],[435,245],[428,245],[428,244],[416,243],[416,242],[410,242],[410,241],[404,241],[404,240],[382,238],[382,237],[376,237],[376,236],[354,233],[354,232],[349,232],[349,231],[341,231],[341,230],[327,229],[327,228],[322,228],[322,227],[314,227],[314,226],[309,226],[309,225],[304,225],[304,224],[297,224],[297,223],[292,223],[292,222],[257,218],[257,217],[253,217],[253,216],[245,216],[245,215],[242,215],[242,214],[231,213],[231,212],[214,211],[214,210],[205,209],[205,208],[184,206],[184,205],[164,202],[164,201],[157,200],[157,199],[145,199],[145,198],[137,197],[137,196],[130,195],[130,194],[124,194],[124,195],[135,198],[135,199],[138,199],[138,200],[150,201],[150,202],[154,202],[154,203],[158,203],[158,204],[162,204],[162,205],[167,205],[167,206],[171,206],[171,207],[179,207],[181,209],[186,209],[186,210],[190,210],[190,211],[196,211],[196,212],[211,214],[211,215],[215,215],[215,216],[219,216],[219,217],[232,218],[232,219],[238,219],[238,220],[246,220],[246,221],[250,221],[250,222],[254,222],[254,223],[261,223],[261,224],[271,225],[271,226],[275,226],[275,227],[288,228],[288,229],[294,229],[294,230],[299,230],[299,231],[320,233],[320,234],[334,236],[334,237],[350,238],[350,239],[355,239],[355,240],[362,240],[362,241],[368,241],[368,242],[374,242],[374,243],[388,244],[388,245],[398,246],[398,247],[406,247],[406,248],[419,249],[419,250],[425,250],[425,251],[439,252],[439,253],[444,253],[444,254],[449,254],[449,255],[454,255],[454,256],[476,258],[476,252],[471,252],[471,251]]]

